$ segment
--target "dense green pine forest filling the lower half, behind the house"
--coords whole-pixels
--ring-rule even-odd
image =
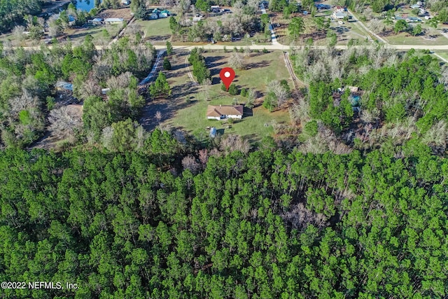
[[[418,142],[401,158],[263,144],[206,153],[197,173],[166,163],[179,146],[158,130],[141,153],[2,151],[1,280],[79,289],[1,297],[447,294],[446,159]]]

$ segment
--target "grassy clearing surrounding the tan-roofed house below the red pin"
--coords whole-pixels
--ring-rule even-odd
[[[227,61],[230,53],[204,53],[207,64],[211,69],[213,78],[212,85],[209,86],[209,100],[205,99],[204,86],[190,85],[188,70],[186,69],[185,59],[187,56],[172,59],[173,71],[167,73],[168,81],[172,86],[173,98],[167,101],[170,105],[176,106],[174,113],[165,120],[166,124],[174,127],[181,127],[183,130],[195,134],[206,134],[206,127],[217,127],[223,129],[225,133],[234,133],[241,136],[250,137],[252,140],[259,140],[262,137],[271,135],[274,130],[272,123],[289,123],[287,111],[276,111],[270,113],[262,106],[258,106],[253,111],[246,111],[243,120],[235,123],[228,128],[228,123],[221,123],[218,120],[208,120],[207,106],[219,104],[232,104],[233,99],[237,99],[240,104],[244,104],[245,97],[241,95],[229,95],[228,92],[221,90],[221,81],[219,71],[223,67],[228,67]],[[251,57],[245,57],[247,69],[236,71],[234,83],[241,88],[253,88],[260,93],[257,104],[262,103],[262,93],[266,90],[269,81],[279,78],[290,78],[288,70],[285,67],[283,54],[280,51],[272,53],[252,53]],[[290,82],[290,87],[293,83]],[[186,99],[192,102],[186,103]],[[158,103],[160,109],[164,104]],[[253,115],[252,115],[253,114]]]

